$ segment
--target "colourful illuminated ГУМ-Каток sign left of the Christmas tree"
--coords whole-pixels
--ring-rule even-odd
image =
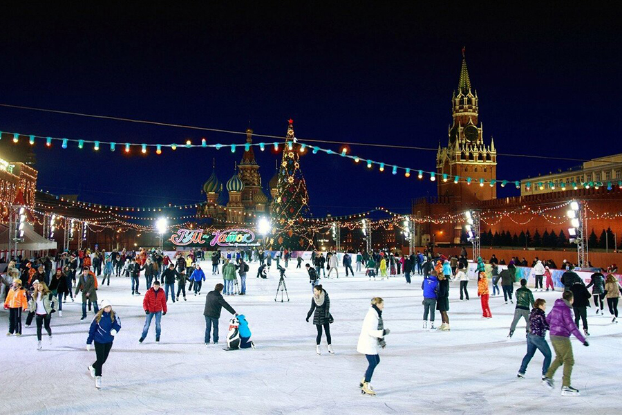
[[[215,230],[211,234],[202,229],[180,229],[172,234],[169,241],[176,246],[258,246],[255,234],[248,229]]]

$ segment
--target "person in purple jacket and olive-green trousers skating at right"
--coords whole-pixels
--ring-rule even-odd
[[[579,391],[570,386],[570,375],[572,374],[572,366],[574,365],[574,357],[572,356],[572,344],[570,344],[570,334],[574,334],[583,346],[590,344],[585,340],[581,332],[578,331],[574,319],[572,318],[572,302],[574,295],[572,291],[564,291],[562,298],[555,300],[552,311],[547,315],[547,323],[551,331],[551,343],[555,350],[555,360],[553,360],[547,376],[542,383],[549,389],[553,389],[553,376],[555,371],[561,365],[564,365],[564,376],[562,380],[563,396],[578,396]]]

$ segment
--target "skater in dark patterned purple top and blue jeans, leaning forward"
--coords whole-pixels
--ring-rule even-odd
[[[518,290],[517,290],[518,293]],[[527,365],[531,362],[531,358],[534,357],[536,349],[544,356],[544,362],[542,364],[542,378],[545,380],[547,371],[551,365],[551,348],[547,343],[547,330],[549,329],[549,323],[547,323],[547,317],[545,311],[547,310],[547,302],[544,299],[538,298],[534,302],[534,308],[529,313],[529,333],[527,333],[527,353],[522,358],[520,369],[518,369],[518,378],[525,378],[525,372],[527,371]]]

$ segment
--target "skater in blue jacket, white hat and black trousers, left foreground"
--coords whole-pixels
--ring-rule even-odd
[[[108,360],[112,349],[115,335],[121,330],[121,319],[112,309],[112,304],[107,300],[102,300],[102,309],[95,314],[91,327],[88,329],[86,338],[86,350],[91,351],[91,344],[95,342],[96,360],[89,366],[88,373],[95,378],[95,387],[102,387],[102,367]]]

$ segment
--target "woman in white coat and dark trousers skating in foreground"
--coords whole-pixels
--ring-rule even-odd
[[[389,329],[384,328],[382,322],[382,310],[384,309],[384,300],[380,297],[374,297],[371,301],[371,307],[365,316],[363,321],[363,328],[361,329],[361,335],[359,335],[359,344],[357,345],[357,351],[362,353],[367,358],[369,365],[365,371],[365,377],[361,380],[359,387],[363,394],[375,395],[376,392],[371,387],[369,382],[371,381],[374,369],[380,362],[380,356],[378,355],[378,347],[384,349],[386,342],[384,342],[384,336],[390,333]]]

